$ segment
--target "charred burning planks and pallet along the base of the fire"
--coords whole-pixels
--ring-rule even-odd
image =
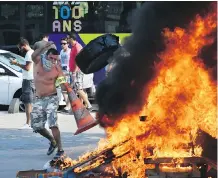
[[[83,155],[79,160],[71,160],[67,157],[62,157],[59,160],[51,161],[50,164],[56,169],[62,168],[62,171],[65,172],[73,171],[75,178],[127,178],[131,176],[127,171],[121,168],[116,169],[111,163],[114,160],[119,160],[123,156],[127,156],[126,158],[128,158],[131,154],[131,150],[134,149],[133,146],[131,147],[132,143],[132,140],[126,140],[111,148],[102,148],[102,150],[96,150],[88,155]],[[129,150],[123,149],[123,153],[121,154],[121,148],[125,147],[128,147]],[[119,150],[119,156],[116,156],[116,154],[118,154],[116,149]],[[140,159],[139,153],[135,155],[135,159],[132,160],[132,162],[137,163],[137,159]],[[216,163],[202,157],[158,157],[144,158],[141,161],[146,167],[145,170],[138,167],[138,169],[144,172],[142,177],[216,178]],[[65,165],[65,167],[63,167],[63,165]],[[57,175],[58,174],[60,173],[57,173]]]

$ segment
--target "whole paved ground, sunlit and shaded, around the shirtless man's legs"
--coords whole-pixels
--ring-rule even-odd
[[[94,113],[92,113],[94,115]],[[63,148],[76,159],[97,147],[105,136],[99,126],[75,136],[77,127],[73,115],[59,115]],[[15,178],[20,170],[42,169],[54,155],[47,156],[47,139],[32,130],[18,130],[25,122],[25,113],[0,111],[0,178]]]

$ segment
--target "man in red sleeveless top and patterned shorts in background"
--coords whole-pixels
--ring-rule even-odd
[[[73,87],[76,91],[76,93],[79,95],[80,99],[84,101],[85,106],[87,106],[87,109],[89,111],[92,111],[92,105],[89,102],[88,95],[83,90],[83,77],[84,74],[79,69],[79,67],[76,65],[76,56],[82,49],[81,44],[78,43],[76,40],[76,34],[68,34],[67,35],[68,42],[71,44],[71,53],[70,53],[70,61],[69,61],[69,69],[72,73],[72,81],[73,81]]]

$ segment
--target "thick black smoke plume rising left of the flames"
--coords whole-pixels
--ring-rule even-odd
[[[111,120],[138,112],[146,102],[142,90],[155,75],[153,66],[158,62],[157,54],[165,48],[162,30],[166,27],[172,30],[175,27],[186,28],[196,14],[205,15],[209,5],[210,2],[200,1],[145,2],[133,16],[132,35],[124,44],[131,55],[114,56],[116,67],[97,88],[99,112]],[[205,50],[206,53],[210,51]]]

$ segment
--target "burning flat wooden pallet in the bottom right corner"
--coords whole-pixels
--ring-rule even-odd
[[[145,164],[154,165],[154,169],[147,169],[145,176],[149,178],[208,178],[215,175],[211,172],[208,165],[212,165],[213,171],[216,170],[214,163],[201,157],[183,157],[183,158],[157,158],[144,160]],[[212,174],[212,175],[211,175]]]

